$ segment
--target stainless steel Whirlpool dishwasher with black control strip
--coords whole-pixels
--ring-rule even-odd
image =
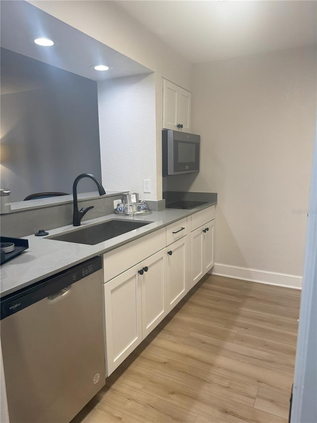
[[[1,299],[10,423],[69,422],[105,384],[101,269],[94,257]]]

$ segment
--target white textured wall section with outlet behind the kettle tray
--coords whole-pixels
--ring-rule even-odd
[[[155,200],[155,75],[98,82],[98,109],[104,185]],[[151,180],[151,193],[143,193],[144,179]]]

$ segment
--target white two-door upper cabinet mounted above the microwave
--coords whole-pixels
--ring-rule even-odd
[[[163,128],[190,132],[192,94],[163,79]]]

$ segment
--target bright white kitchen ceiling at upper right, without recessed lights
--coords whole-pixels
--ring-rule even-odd
[[[116,4],[193,63],[317,42],[314,0],[119,0]]]

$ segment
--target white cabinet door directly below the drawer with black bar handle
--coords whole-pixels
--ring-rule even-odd
[[[173,242],[166,248],[167,258],[167,312],[187,292],[187,237]]]

